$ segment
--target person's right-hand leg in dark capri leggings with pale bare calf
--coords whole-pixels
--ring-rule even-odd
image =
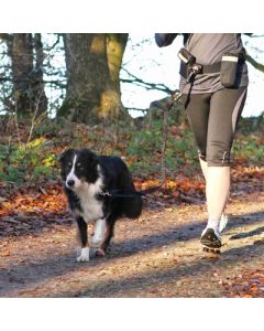
[[[207,228],[213,228],[218,234],[222,229],[220,220],[230,191],[231,147],[245,96],[245,88],[224,88],[211,97],[207,141]]]

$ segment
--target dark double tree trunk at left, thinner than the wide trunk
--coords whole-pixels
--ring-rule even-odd
[[[47,108],[47,98],[43,83],[44,56],[41,34],[35,34],[33,40],[31,33],[14,33],[9,42],[9,51],[12,62],[14,109],[23,116],[44,113]]]

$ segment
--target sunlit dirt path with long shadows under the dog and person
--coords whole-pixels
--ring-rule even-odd
[[[243,202],[242,202],[243,200]],[[201,205],[145,209],[117,224],[107,257],[75,261],[75,226],[0,242],[0,297],[264,297],[264,194],[229,205],[219,258],[201,252]]]

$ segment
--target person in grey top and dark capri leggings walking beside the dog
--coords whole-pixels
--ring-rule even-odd
[[[177,33],[155,33],[156,44],[167,46]],[[227,225],[224,207],[230,191],[231,148],[249,85],[245,51],[240,33],[184,34],[179,90],[198,147],[206,179],[208,222],[200,242],[222,246]]]

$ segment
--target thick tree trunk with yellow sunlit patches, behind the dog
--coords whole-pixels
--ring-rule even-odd
[[[65,34],[67,92],[57,116],[98,122],[128,116],[119,73],[128,34]]]

